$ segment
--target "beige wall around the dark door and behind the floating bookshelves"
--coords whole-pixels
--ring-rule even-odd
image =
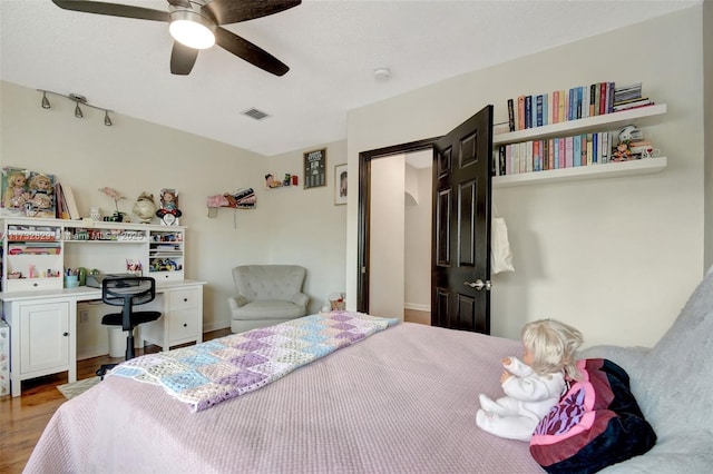
[[[494,191],[517,271],[494,277],[492,333],[516,338],[526,322],[554,317],[578,326],[587,345],[651,346],[704,268],[702,55],[694,7],[352,110],[350,186],[360,151],[443,135],[488,103],[498,122],[519,95],[642,81],[668,105],[644,130],[668,156],[663,172]],[[349,200],[345,277],[355,295],[358,206]]]

